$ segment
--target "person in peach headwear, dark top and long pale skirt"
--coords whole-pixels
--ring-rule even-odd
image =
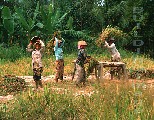
[[[85,85],[86,82],[86,72],[85,72],[85,68],[84,68],[84,64],[86,61],[86,51],[85,48],[87,46],[87,43],[85,41],[79,41],[78,42],[78,57],[76,60],[76,86],[79,87],[80,83],[83,83],[83,85]]]

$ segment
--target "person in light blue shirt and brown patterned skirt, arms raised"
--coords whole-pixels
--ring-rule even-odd
[[[56,36],[54,36],[54,51],[56,56],[56,74],[55,74],[55,82],[58,82],[58,79],[61,81],[63,80],[63,74],[64,74],[64,59],[63,59],[63,49],[65,40],[63,38],[58,39]]]

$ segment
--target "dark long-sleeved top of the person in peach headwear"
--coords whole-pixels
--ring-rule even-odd
[[[86,51],[85,49],[79,49],[78,51],[78,57],[76,63],[82,67],[84,67],[84,62],[86,60]]]

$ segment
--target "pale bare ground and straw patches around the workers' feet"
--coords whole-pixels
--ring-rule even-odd
[[[25,79],[25,82],[28,84],[28,86],[35,87],[33,76],[17,76],[17,77]],[[64,76],[64,81],[70,81],[71,79],[72,79],[71,75]],[[43,80],[43,83],[47,83],[47,82],[54,83],[54,75],[42,76],[42,80]],[[90,80],[95,80],[95,76],[90,75],[89,78],[88,78],[88,81],[90,81]],[[107,84],[109,84],[110,82],[120,83],[120,80],[109,80],[109,79],[106,79],[106,80],[108,81]],[[129,83],[140,83],[140,82],[142,83],[142,82],[144,82],[148,86],[150,86],[150,88],[153,88],[153,86],[154,86],[154,79],[147,79],[147,80],[144,80],[144,81],[143,80],[136,80],[136,79],[129,79],[128,82]],[[71,85],[73,85],[73,83]],[[65,91],[69,91],[69,89],[71,89],[71,87],[70,88],[68,87],[67,89],[66,88],[64,89],[64,88],[52,87],[51,89],[58,92],[58,93],[63,93]],[[91,96],[91,94],[93,94],[94,92],[96,92],[96,91],[93,91],[92,88],[87,86],[84,89],[78,89],[74,93],[74,95],[75,96],[78,96],[78,95]],[[12,99],[14,99],[13,95],[0,96],[0,103],[6,102],[6,101],[12,100]]]

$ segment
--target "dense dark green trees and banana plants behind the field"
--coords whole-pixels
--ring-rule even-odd
[[[23,50],[30,38],[39,35],[45,43],[56,30],[66,39],[67,52],[85,39],[93,50],[99,34],[108,25],[127,34],[120,41],[123,49],[153,57],[153,0],[1,0],[0,43],[19,45]],[[134,40],[142,40],[134,46]],[[69,47],[71,45],[71,47]],[[74,47],[73,47],[74,46]]]

